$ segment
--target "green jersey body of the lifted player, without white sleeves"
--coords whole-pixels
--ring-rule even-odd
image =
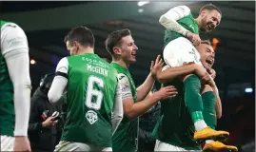
[[[177,21],[183,28],[186,28],[192,33],[198,34],[199,33],[199,28],[198,28],[198,23],[195,21],[193,15],[189,13],[187,16],[179,19]],[[184,35],[177,33],[172,30],[166,30],[165,31],[165,39],[164,39],[164,46],[166,47],[167,44],[179,37],[184,37]]]

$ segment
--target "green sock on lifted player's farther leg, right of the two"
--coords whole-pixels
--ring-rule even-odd
[[[203,116],[204,120],[209,127],[215,129],[217,125],[216,111],[215,111],[215,100],[216,97],[213,91],[208,91],[202,94],[202,99],[204,103]]]

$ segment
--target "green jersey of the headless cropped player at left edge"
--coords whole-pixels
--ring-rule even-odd
[[[8,22],[0,21],[1,29]],[[13,136],[15,112],[13,104],[13,85],[8,66],[0,47],[0,134]]]

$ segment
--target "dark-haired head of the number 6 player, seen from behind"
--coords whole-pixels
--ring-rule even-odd
[[[80,49],[94,47],[95,39],[89,28],[76,27],[72,28],[65,37],[67,49],[70,55],[76,55]]]

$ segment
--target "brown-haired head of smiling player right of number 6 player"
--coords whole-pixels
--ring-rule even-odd
[[[134,44],[128,28],[111,32],[105,42],[105,47],[113,60],[123,60],[126,64],[136,62],[138,47]]]

